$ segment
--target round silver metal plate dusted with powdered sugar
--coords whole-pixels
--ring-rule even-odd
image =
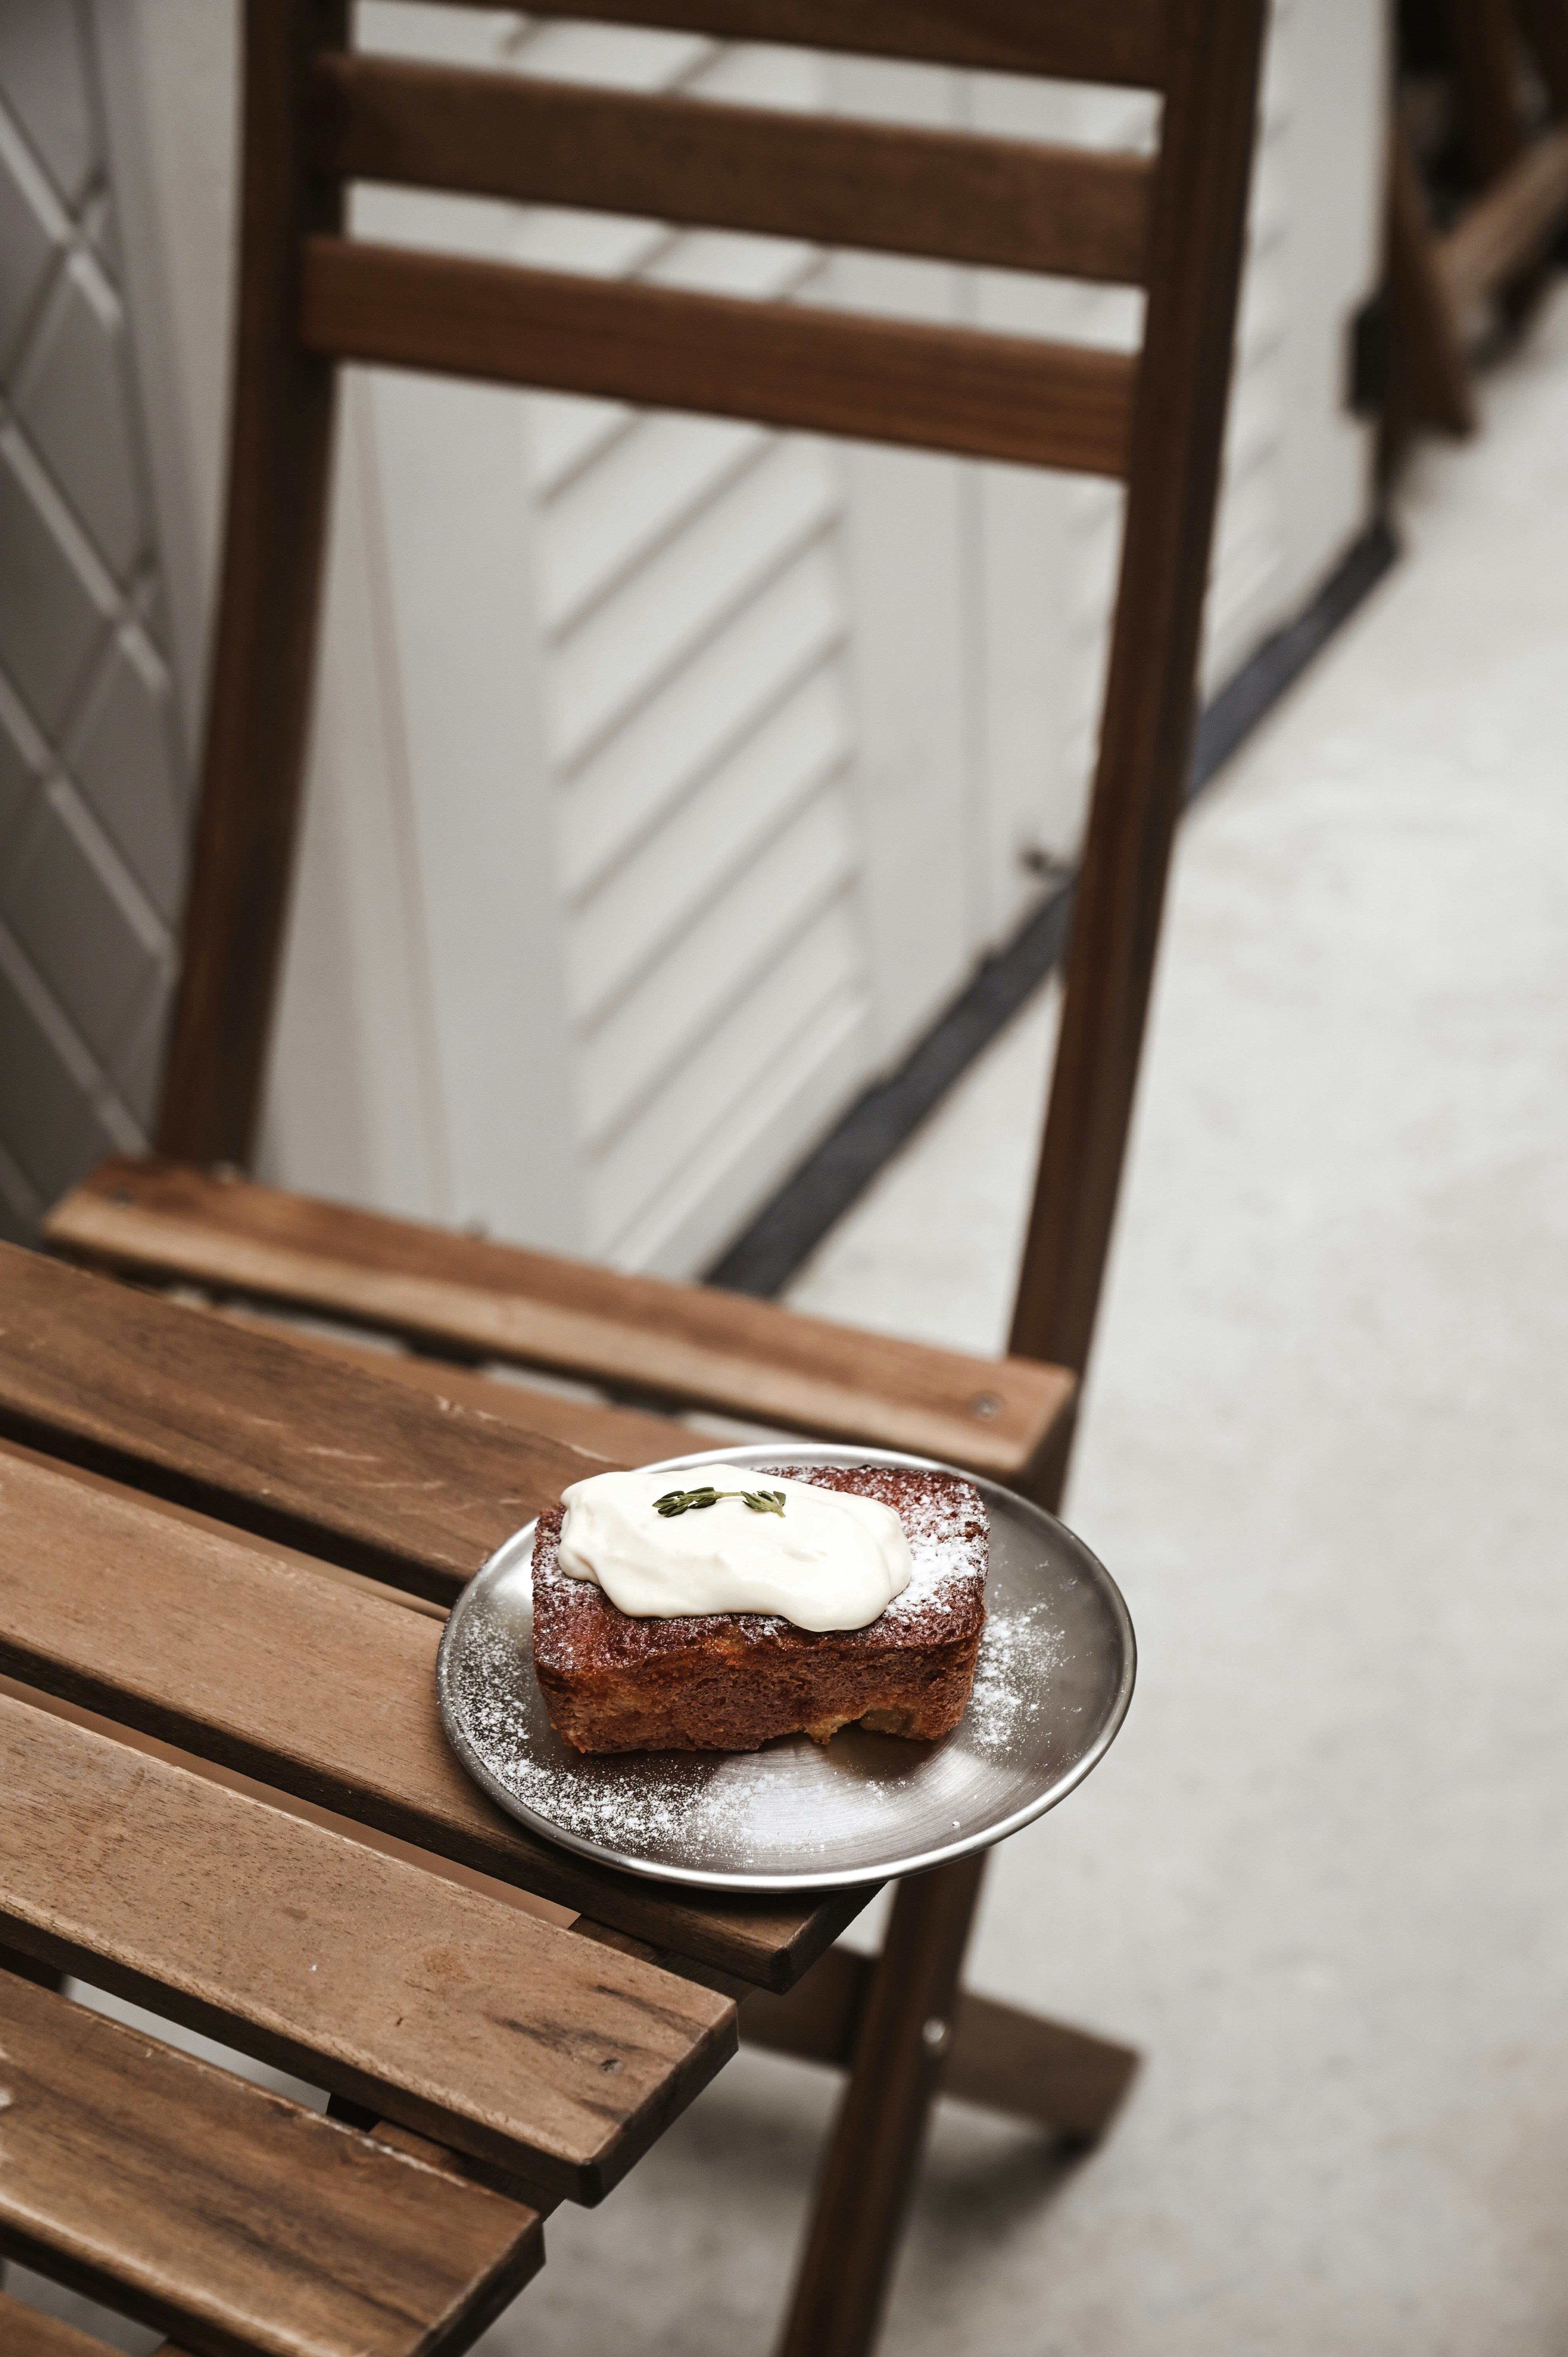
[[[700,1450],[658,1471],[693,1464],[955,1471],[788,1442]],[[703,1890],[889,1881],[1016,1834],[1111,1747],[1132,1699],[1132,1622],[1082,1539],[995,1483],[976,1487],[990,1516],[986,1636],[969,1709],[941,1742],[844,1728],[825,1749],[785,1735],[762,1751],[573,1751],[533,1678],[528,1523],[446,1624],[436,1695],[457,1758],[549,1841]]]

